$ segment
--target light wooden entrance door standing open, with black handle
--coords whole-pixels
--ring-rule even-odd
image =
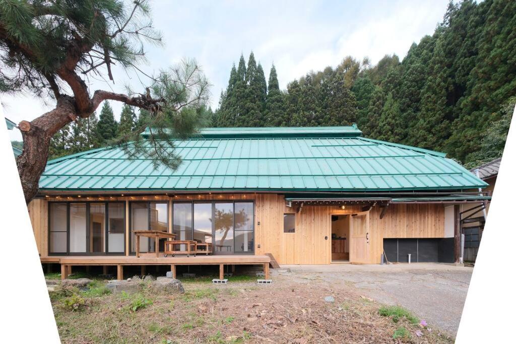
[[[349,261],[369,263],[369,211],[353,214],[349,219]]]

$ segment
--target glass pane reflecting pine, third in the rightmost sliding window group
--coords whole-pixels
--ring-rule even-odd
[[[233,251],[233,203],[215,203],[215,252]]]

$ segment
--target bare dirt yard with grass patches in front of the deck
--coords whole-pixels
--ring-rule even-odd
[[[104,293],[96,281],[89,291],[52,293],[51,300],[66,343],[453,342],[428,320],[382,316],[384,305],[360,289],[313,276],[273,272],[271,285],[255,277],[230,277],[228,285],[184,279],[184,294],[144,288],[132,296]]]

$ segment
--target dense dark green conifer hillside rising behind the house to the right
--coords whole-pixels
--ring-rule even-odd
[[[268,85],[268,86],[267,86]],[[358,123],[364,135],[448,153],[466,165],[499,157],[516,95],[516,2],[450,3],[432,36],[401,61],[345,57],[278,86],[243,56],[220,96],[214,126]]]

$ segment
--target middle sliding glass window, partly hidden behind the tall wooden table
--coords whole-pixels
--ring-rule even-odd
[[[168,203],[131,203],[131,252],[136,252],[135,231],[168,232]],[[155,240],[140,237],[140,252],[154,252]]]

